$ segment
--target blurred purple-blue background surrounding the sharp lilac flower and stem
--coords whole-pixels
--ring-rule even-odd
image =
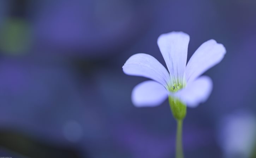
[[[171,31],[190,35],[188,59],[208,39],[227,50],[187,109],[185,157],[256,158],[255,0],[1,0],[0,157],[174,157],[168,101],[135,108],[148,79],[122,71],[139,52],[164,64]]]

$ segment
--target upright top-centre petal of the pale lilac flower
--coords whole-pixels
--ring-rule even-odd
[[[189,35],[184,32],[161,34],[157,39],[171,78],[174,78],[175,82],[178,79],[178,82],[181,83],[184,77],[189,39]]]

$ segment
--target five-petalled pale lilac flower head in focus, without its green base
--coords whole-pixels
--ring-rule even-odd
[[[154,80],[142,82],[133,89],[132,102],[136,107],[158,106],[168,95],[178,98],[189,107],[196,107],[208,99],[212,80],[207,76],[199,76],[218,64],[226,49],[215,40],[208,40],[186,64],[189,39],[189,35],[184,32],[161,34],[157,39],[169,72],[157,59],[144,53],[135,54],[125,62],[125,74]]]

